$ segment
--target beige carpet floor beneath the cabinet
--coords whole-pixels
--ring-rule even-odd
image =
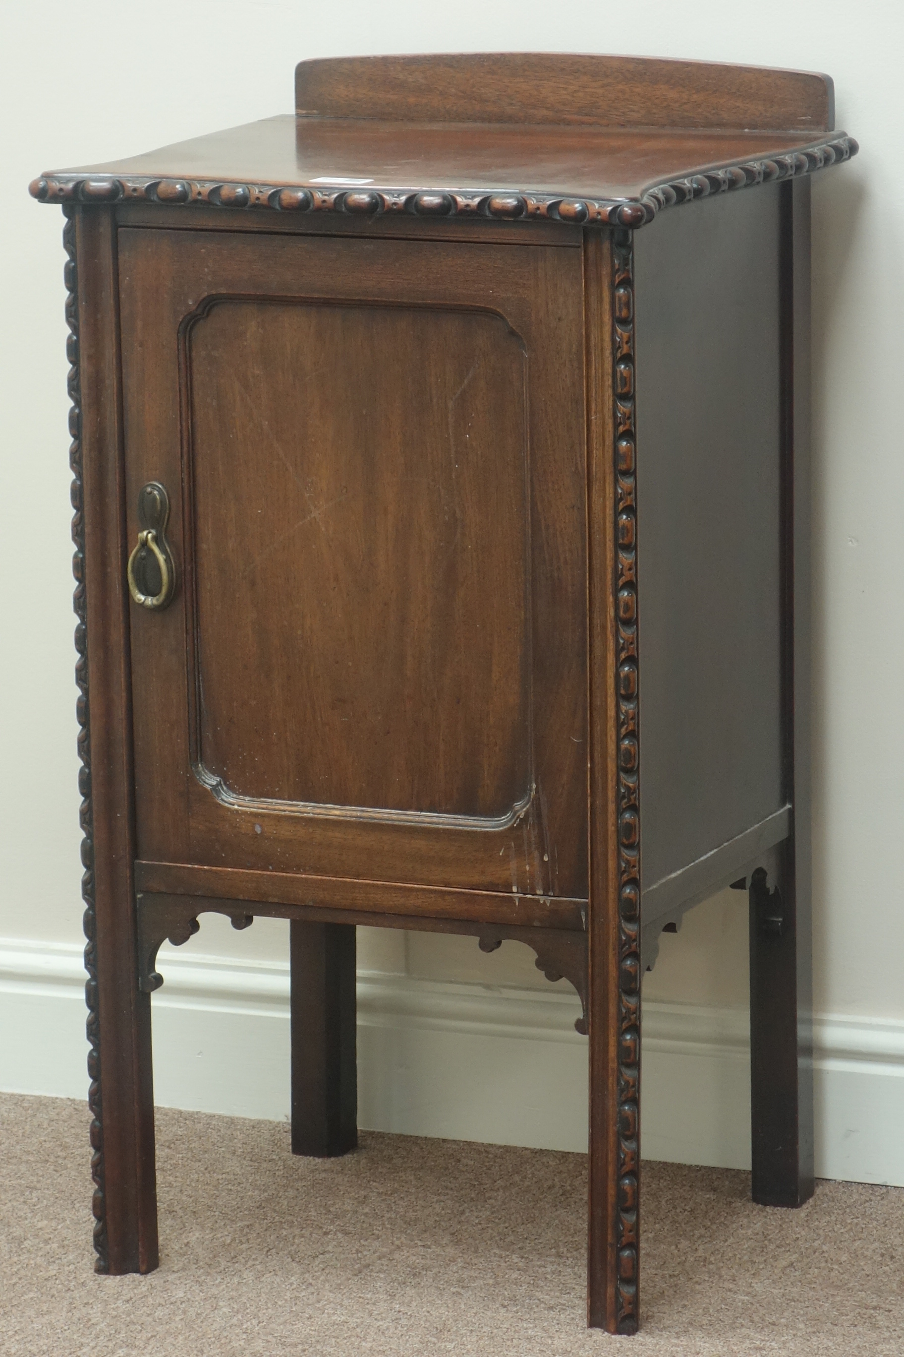
[[[904,1353],[904,1190],[648,1164],[644,1330],[584,1329],[581,1155],[160,1110],[161,1266],[91,1270],[87,1113],[0,1096],[3,1357],[637,1357]]]

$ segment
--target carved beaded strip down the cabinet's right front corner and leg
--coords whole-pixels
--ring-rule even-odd
[[[637,645],[637,449],[634,265],[626,231],[613,237],[615,429],[615,702],[618,708],[618,1282],[617,1331],[638,1322],[640,1194],[640,729]]]

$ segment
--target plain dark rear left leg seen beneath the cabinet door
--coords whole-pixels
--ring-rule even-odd
[[[291,1152],[331,1159],[358,1145],[355,928],[289,925]]]

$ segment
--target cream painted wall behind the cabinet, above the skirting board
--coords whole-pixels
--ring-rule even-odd
[[[33,0],[7,5],[3,100],[3,505],[5,864],[0,935],[80,938],[69,471],[58,209],[43,168],[133,153],[291,109],[301,57],[371,52],[628,52],[823,69],[862,153],[813,186],[816,1007],[904,1018],[899,866],[904,801],[903,11],[863,0]],[[286,925],[205,921],[207,954],[285,957]],[[369,969],[545,987],[514,943],[363,931]],[[743,897],[667,936],[646,995],[747,997]],[[564,982],[562,982],[564,984]],[[561,987],[560,987],[561,988]]]

